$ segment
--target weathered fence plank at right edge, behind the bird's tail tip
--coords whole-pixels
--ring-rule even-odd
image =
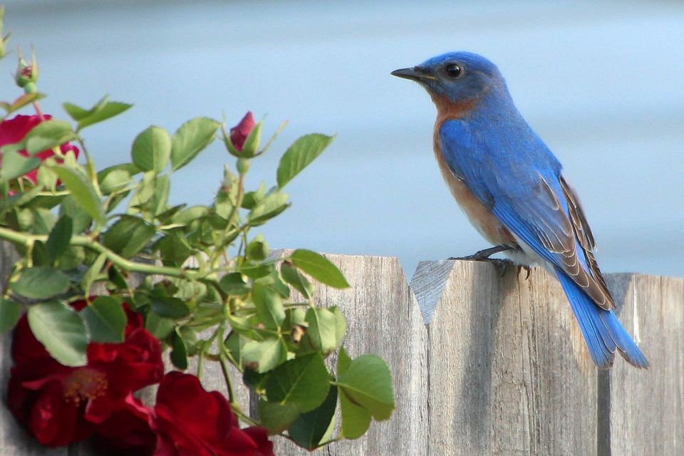
[[[651,363],[640,371],[616,362],[601,378],[609,381],[602,388],[609,394],[602,410],[609,455],[684,455],[684,279],[614,274],[607,280],[623,303],[620,320]]]

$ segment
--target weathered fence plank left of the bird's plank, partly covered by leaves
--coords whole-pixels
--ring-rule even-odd
[[[358,440],[335,442],[326,455],[380,456],[427,454],[425,326],[398,259],[326,255],[351,288],[316,289],[316,304],[339,306],[348,321],[345,347],[352,358],[376,353],[390,366],[397,409],[389,422],[372,423]],[[336,363],[336,359],[331,362]],[[339,420],[338,420],[339,423]],[[276,455],[309,455],[276,439]]]

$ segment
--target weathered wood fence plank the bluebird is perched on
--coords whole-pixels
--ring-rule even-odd
[[[545,271],[424,261],[411,288],[428,328],[430,455],[596,455],[596,370]]]

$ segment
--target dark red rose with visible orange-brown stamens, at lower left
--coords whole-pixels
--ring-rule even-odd
[[[78,309],[82,303],[72,304]],[[93,433],[98,417],[131,391],[163,375],[161,346],[129,311],[123,343],[90,343],[88,365],[62,366],[36,340],[23,316],[14,331],[9,408],[43,445],[61,446]]]

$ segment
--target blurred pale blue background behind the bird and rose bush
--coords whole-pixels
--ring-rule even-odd
[[[247,110],[285,133],[250,184],[275,182],[304,133],[338,138],[287,188],[271,247],[418,261],[489,247],[432,156],[435,111],[390,71],[467,50],[499,65],[529,123],[581,195],[604,271],[684,276],[684,4],[676,1],[10,0],[6,30],[41,67],[46,113],[105,93],[135,108],[86,130],[98,167],[128,159],[150,124]],[[2,98],[17,94],[3,61]],[[233,160],[216,143],[172,202],[208,203]],[[180,179],[178,178],[180,177]]]

